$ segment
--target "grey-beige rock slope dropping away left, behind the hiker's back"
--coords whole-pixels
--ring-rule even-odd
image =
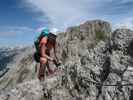
[[[35,62],[33,60],[33,48],[19,51],[13,61],[8,64],[10,70],[0,78],[0,90],[11,89],[18,83],[35,78]],[[0,91],[0,92],[1,92]]]

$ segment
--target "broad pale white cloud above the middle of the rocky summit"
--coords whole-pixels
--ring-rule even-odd
[[[48,16],[52,27],[61,29],[88,20],[94,15],[92,14],[94,5],[98,5],[93,0],[25,0],[25,2],[35,12],[41,11],[43,16]],[[40,18],[42,20],[43,17]]]

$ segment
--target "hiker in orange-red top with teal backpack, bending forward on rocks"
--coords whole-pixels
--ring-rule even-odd
[[[59,65],[59,59],[56,56],[56,29],[49,31],[45,28],[42,30],[38,39],[34,42],[36,47],[36,53],[34,58],[40,63],[38,78],[40,81],[45,80],[46,67],[48,73],[54,74],[55,70],[52,70],[49,66],[49,62],[53,62],[55,65]],[[50,51],[53,50],[54,58],[50,56]]]

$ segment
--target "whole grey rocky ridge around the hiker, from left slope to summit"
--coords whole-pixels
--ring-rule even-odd
[[[59,72],[39,82],[34,50],[27,48],[0,78],[0,100],[133,100],[133,31],[93,20],[57,41]]]

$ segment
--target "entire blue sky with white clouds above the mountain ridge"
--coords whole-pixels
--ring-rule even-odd
[[[0,0],[0,46],[31,45],[41,27],[102,19],[133,28],[133,0]]]

